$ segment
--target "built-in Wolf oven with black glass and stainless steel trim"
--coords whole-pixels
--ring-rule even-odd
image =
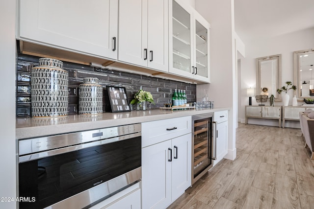
[[[141,180],[141,124],[19,140],[20,209],[89,208]]]

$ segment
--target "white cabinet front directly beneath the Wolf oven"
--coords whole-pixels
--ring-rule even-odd
[[[140,183],[120,191],[91,209],[141,209]]]

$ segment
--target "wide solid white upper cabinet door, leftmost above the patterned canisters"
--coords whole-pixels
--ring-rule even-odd
[[[17,38],[117,59],[117,0],[20,0]]]

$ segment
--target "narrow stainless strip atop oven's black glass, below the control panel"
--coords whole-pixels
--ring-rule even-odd
[[[59,148],[59,149],[48,150],[48,151],[39,152],[39,153],[33,153],[33,154],[30,154],[30,155],[20,156],[19,157],[19,163],[32,161],[32,160],[45,158],[45,157],[50,157],[50,156],[53,156],[53,155],[67,153],[67,152],[71,152],[71,151],[75,151],[75,150],[79,150],[79,149],[84,149],[84,148],[87,148],[87,147],[103,145],[103,144],[107,144],[107,143],[111,143],[111,142],[115,142],[115,141],[122,141],[122,140],[132,139],[132,138],[140,137],[140,136],[141,136],[141,133],[129,134],[129,135],[126,135],[126,136],[115,137],[115,138],[111,138],[111,139],[104,139],[104,140],[100,140],[100,141],[93,141],[93,142],[88,142],[88,143],[78,144],[78,145],[74,145],[74,146],[63,147],[63,148]]]

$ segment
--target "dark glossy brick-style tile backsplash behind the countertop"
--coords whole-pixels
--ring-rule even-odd
[[[36,56],[18,53],[17,72],[21,76],[29,75],[34,66],[38,66],[39,58]],[[127,90],[128,101],[133,99],[134,94],[142,87],[144,91],[151,92],[155,105],[152,108],[163,107],[164,103],[171,103],[172,93],[175,89],[186,91],[187,102],[196,101],[196,85],[179,81],[166,80],[162,78],[149,77],[145,75],[121,72],[117,70],[100,69],[76,63],[63,62],[63,69],[69,72],[69,114],[78,114],[78,90],[79,84],[83,83],[85,77],[97,77],[106,91],[106,85],[123,86]],[[17,75],[18,76],[18,75]],[[29,86],[30,82],[19,81],[18,85]],[[27,97],[27,93],[17,93],[17,98]],[[104,96],[104,111],[109,101]],[[17,116],[30,116],[31,103],[17,103]]]

